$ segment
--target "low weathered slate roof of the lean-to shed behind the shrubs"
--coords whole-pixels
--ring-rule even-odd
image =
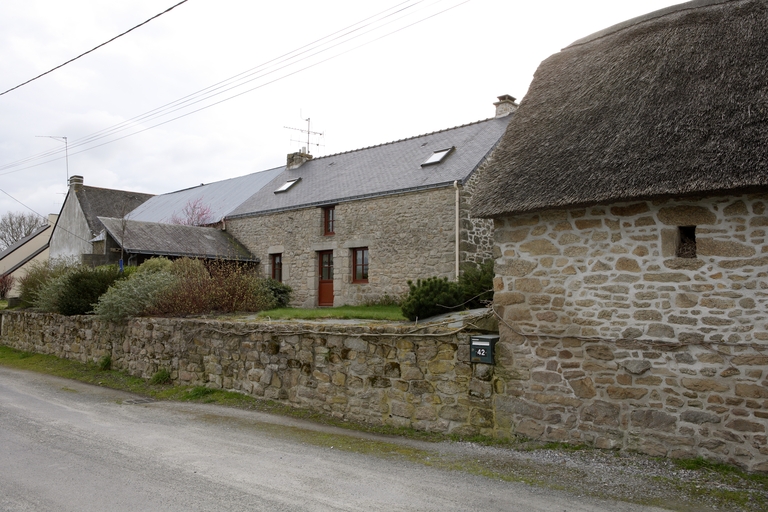
[[[240,242],[220,229],[106,217],[99,217],[99,220],[128,253],[259,261]]]

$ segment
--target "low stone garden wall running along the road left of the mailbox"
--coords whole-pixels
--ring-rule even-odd
[[[4,311],[0,343],[150,378],[280,400],[377,425],[493,434],[492,367],[469,362],[469,334],[413,326],[221,322]]]

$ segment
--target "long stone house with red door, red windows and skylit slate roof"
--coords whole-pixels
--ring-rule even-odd
[[[290,285],[303,307],[399,298],[408,280],[455,279],[491,258],[492,222],[469,207],[517,108],[496,117],[313,158],[288,155],[269,184],[225,216],[226,229]]]

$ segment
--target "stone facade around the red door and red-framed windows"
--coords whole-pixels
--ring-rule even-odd
[[[472,181],[472,180],[470,180]],[[470,219],[473,187],[460,192],[461,261],[491,257],[492,226]],[[408,292],[408,280],[455,278],[456,196],[453,187],[393,194],[335,205],[333,235],[323,234],[323,209],[302,208],[227,221],[227,231],[272,273],[270,255],[282,254],[283,282],[292,304],[317,306],[319,251],[333,251],[334,305],[364,304]],[[367,283],[352,282],[352,250],[367,247]]]

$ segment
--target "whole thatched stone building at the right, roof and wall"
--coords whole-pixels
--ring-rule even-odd
[[[546,59],[476,192],[501,433],[768,471],[768,2]]]

